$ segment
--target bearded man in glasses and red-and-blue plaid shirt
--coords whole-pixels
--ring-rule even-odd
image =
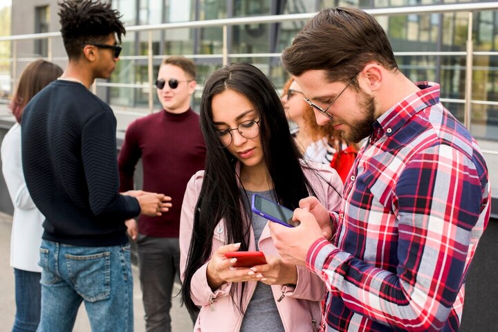
[[[282,63],[319,124],[366,139],[340,211],[310,197],[294,212],[298,227],[270,225],[284,261],[329,290],[321,331],[458,331],[490,183],[439,84],[405,77],[382,26],[354,8],[319,12]]]

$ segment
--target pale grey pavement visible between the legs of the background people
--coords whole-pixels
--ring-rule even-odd
[[[15,317],[14,272],[10,267],[10,230],[12,216],[0,212],[0,332],[12,330]],[[175,284],[173,293],[180,291],[180,285]],[[145,331],[142,292],[138,282],[138,268],[133,266],[133,312],[135,317],[135,331]],[[185,307],[180,307],[180,296],[173,298],[172,330],[174,332],[192,331],[193,324]],[[75,332],[91,331],[84,305],[80,307]]]

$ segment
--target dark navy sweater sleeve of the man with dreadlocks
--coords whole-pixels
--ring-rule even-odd
[[[95,216],[112,215],[129,219],[140,213],[136,198],[118,192],[116,118],[111,111],[100,112],[85,124],[82,160],[90,208]]]

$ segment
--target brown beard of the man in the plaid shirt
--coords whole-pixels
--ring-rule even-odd
[[[348,142],[358,143],[363,138],[367,138],[374,131],[374,122],[376,121],[376,102],[375,98],[371,95],[367,95],[365,91],[359,91],[360,96],[360,108],[364,110],[365,117],[362,120],[356,120],[352,123],[348,123],[348,127],[351,129],[349,133],[342,131],[342,138]]]

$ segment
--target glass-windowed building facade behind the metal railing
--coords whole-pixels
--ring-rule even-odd
[[[125,25],[144,26],[185,21],[204,21],[264,15],[315,12],[330,6],[362,9],[413,7],[410,15],[376,16],[387,31],[401,71],[411,80],[441,83],[445,106],[463,122],[465,100],[465,49],[468,13],[417,14],[417,6],[485,1],[458,0],[107,0],[122,14]],[[12,35],[59,30],[57,0],[12,1]],[[279,66],[279,53],[291,43],[305,20],[271,24],[228,26],[226,48],[229,62],[250,62],[259,66],[281,88],[288,75]],[[474,55],[472,70],[471,131],[477,138],[498,140],[498,11],[474,12],[472,19]],[[154,30],[151,34],[156,76],[165,55],[192,57],[202,83],[221,65],[223,31],[221,26]],[[147,109],[149,100],[147,32],[129,32],[124,37],[121,61],[109,82],[98,84],[98,94],[114,107]],[[60,38],[17,42],[17,56],[26,62],[50,57],[64,65],[65,52]],[[20,72],[21,62],[17,66]],[[197,104],[201,90],[194,98]],[[490,103],[488,103],[490,102]],[[486,104],[488,103],[488,104]],[[154,107],[159,107],[154,98]]]

